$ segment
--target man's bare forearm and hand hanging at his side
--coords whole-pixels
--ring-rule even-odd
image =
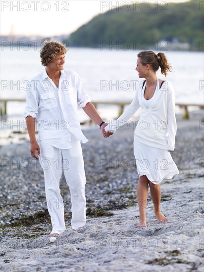
[[[28,134],[30,137],[30,143],[31,143],[31,156],[33,156],[36,159],[39,159],[40,155],[40,146],[37,143],[36,140],[36,134],[35,134],[35,118],[31,117],[30,115],[26,117],[26,125]],[[38,156],[36,155],[36,150],[38,151]]]

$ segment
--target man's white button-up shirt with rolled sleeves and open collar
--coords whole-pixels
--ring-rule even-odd
[[[91,99],[76,72],[60,71],[57,88],[44,69],[28,84],[24,117],[36,118],[39,140],[67,149],[71,147],[71,134],[83,143],[88,141],[81,131],[77,112],[77,107],[83,108],[88,102]]]

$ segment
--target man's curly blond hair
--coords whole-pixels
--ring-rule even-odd
[[[66,54],[66,46],[57,41],[45,41],[43,47],[40,50],[41,63],[43,66],[47,66],[48,63],[54,60],[56,55]]]

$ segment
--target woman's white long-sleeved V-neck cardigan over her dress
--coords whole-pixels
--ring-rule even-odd
[[[142,88],[142,83],[138,86],[132,103],[117,120],[105,127],[105,131],[115,133],[141,108],[140,119],[135,129],[135,140],[153,147],[174,150],[176,117],[173,87],[165,81],[147,109],[142,102],[146,84]]]

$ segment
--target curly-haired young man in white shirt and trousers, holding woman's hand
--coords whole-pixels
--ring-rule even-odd
[[[63,199],[59,180],[62,169],[71,194],[71,226],[86,224],[85,171],[80,142],[87,142],[77,115],[77,107],[95,121],[104,134],[107,125],[83,89],[79,75],[64,70],[66,47],[56,41],[44,42],[41,62],[45,70],[34,77],[27,88],[25,118],[31,142],[31,155],[39,159],[44,170],[48,211],[52,231],[65,230]],[[35,120],[39,124],[39,141],[35,136]],[[38,155],[36,154],[36,151]]]

